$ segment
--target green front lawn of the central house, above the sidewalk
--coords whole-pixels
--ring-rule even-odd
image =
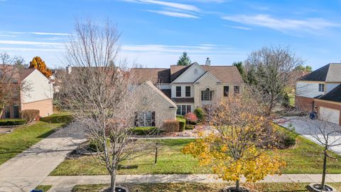
[[[154,154],[146,154],[130,161],[124,161],[118,174],[210,174],[210,169],[199,166],[197,159],[181,152],[183,146],[193,139],[159,139],[158,164],[154,165]],[[296,146],[291,149],[278,150],[286,161],[285,174],[320,174],[323,159],[319,146],[303,137],[297,137]],[[272,153],[272,151],[269,151]],[[340,156],[337,156],[340,159]],[[328,173],[340,174],[341,162],[337,159],[328,161]],[[50,175],[102,175],[108,174],[104,166],[98,164],[93,156],[82,156],[80,159],[65,159]]]

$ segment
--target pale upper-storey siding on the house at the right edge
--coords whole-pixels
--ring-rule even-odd
[[[319,83],[321,82],[296,82],[296,95],[310,98],[324,95],[324,92],[318,91]]]

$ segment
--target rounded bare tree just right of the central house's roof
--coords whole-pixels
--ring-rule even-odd
[[[288,46],[264,47],[252,52],[245,60],[247,72],[253,71],[254,90],[264,99],[268,114],[281,103],[285,87],[295,85],[296,68],[303,60]]]

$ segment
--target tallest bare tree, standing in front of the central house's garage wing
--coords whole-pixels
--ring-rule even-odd
[[[110,191],[116,187],[119,163],[139,155],[136,151],[143,146],[131,139],[139,105],[134,95],[142,93],[136,93],[129,69],[115,62],[118,50],[119,32],[111,23],[101,27],[90,20],[78,21],[67,45],[72,72],[60,88],[63,107],[86,127],[87,138],[95,143],[97,157],[111,176]]]

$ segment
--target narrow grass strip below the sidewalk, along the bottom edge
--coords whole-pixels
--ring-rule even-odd
[[[141,184],[126,184],[124,186],[129,191],[139,192],[173,192],[173,191],[216,191],[219,192],[222,188],[231,185],[232,183],[141,183]],[[337,191],[341,190],[341,183],[330,183]],[[242,186],[247,186],[252,191],[308,191],[305,186],[308,183],[242,183]],[[94,192],[107,187],[107,185],[81,185],[75,186],[72,192]],[[108,186],[109,187],[109,186]]]

